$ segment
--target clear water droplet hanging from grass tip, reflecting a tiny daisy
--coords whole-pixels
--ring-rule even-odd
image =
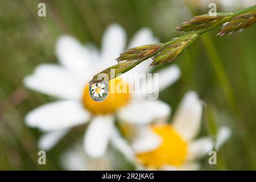
[[[89,86],[90,97],[97,102],[104,101],[109,95],[109,84],[106,81],[91,84]]]

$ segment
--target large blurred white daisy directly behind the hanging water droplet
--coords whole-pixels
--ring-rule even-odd
[[[128,48],[156,42],[158,40],[152,32],[142,28],[133,36]],[[41,64],[32,75],[24,78],[27,88],[59,98],[26,115],[28,126],[45,132],[39,139],[40,149],[51,149],[72,127],[90,121],[84,135],[84,149],[86,154],[97,158],[105,154],[114,129],[115,115],[120,120],[137,124],[168,117],[170,107],[159,100],[147,100],[146,94],[109,93],[103,102],[90,98],[89,80],[113,65],[118,54],[125,50],[125,45],[125,31],[117,24],[105,31],[101,51],[92,44],[84,46],[71,36],[61,36],[56,45],[60,65]],[[148,59],[127,73],[148,73],[151,61]],[[179,77],[180,69],[176,65],[162,69],[159,72],[159,90],[170,86]],[[118,79],[115,84],[120,81],[124,82]],[[123,84],[128,86],[130,82]],[[102,94],[100,90],[94,93]]]

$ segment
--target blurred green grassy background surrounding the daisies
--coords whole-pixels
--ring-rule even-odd
[[[38,3],[47,16],[38,17]],[[111,23],[127,31],[128,40],[141,27],[150,27],[161,42],[178,36],[174,28],[192,15],[204,14],[199,1],[86,0],[0,1],[0,169],[62,169],[59,156],[82,135],[71,133],[38,165],[36,140],[40,133],[24,125],[24,115],[54,100],[31,92],[23,77],[40,63],[57,63],[55,41],[70,34],[100,48]],[[224,7],[218,6],[218,11]],[[232,8],[231,8],[232,9]],[[237,10],[237,6],[233,7]],[[226,125],[232,138],[218,152],[217,166],[204,159],[202,169],[256,169],[256,26],[242,33],[217,37],[218,28],[202,36],[175,60],[182,77],[160,93],[173,113],[182,96],[195,90],[207,105],[202,135]],[[114,60],[113,60],[114,63]],[[164,67],[155,68],[155,71]],[[81,131],[81,132],[80,132]]]

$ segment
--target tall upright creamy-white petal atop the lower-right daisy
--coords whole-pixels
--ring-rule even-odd
[[[199,133],[203,106],[196,92],[185,94],[173,120],[173,126],[186,140]]]

